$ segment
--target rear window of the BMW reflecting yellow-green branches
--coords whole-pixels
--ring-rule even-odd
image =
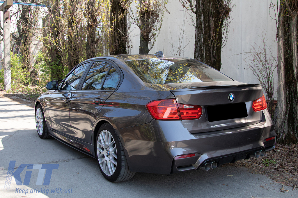
[[[194,59],[142,59],[125,63],[150,84],[232,81],[231,78]]]

